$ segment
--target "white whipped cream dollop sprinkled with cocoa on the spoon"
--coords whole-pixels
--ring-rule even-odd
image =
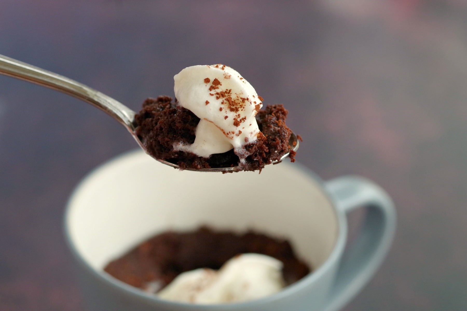
[[[233,148],[241,160],[246,158],[244,145],[260,133],[255,115],[262,107],[262,97],[251,84],[221,64],[187,67],[174,81],[178,104],[201,119],[194,143],[177,143],[174,149],[209,158]]]

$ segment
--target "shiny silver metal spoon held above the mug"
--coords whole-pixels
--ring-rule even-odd
[[[108,115],[113,117],[115,120],[120,122],[125,128],[130,132],[133,138],[136,140],[138,145],[146,152],[142,141],[135,133],[136,123],[134,121],[135,112],[129,109],[124,104],[121,104],[117,100],[109,97],[101,92],[94,90],[84,84],[66,78],[64,76],[57,75],[56,73],[37,68],[35,66],[29,65],[25,62],[17,61],[13,58],[0,55],[0,74],[5,76],[11,76],[17,79],[28,81],[31,83],[39,84],[45,87],[48,87],[53,90],[60,91],[67,95],[71,95],[78,99],[81,99],[89,104],[92,104],[94,107],[99,108],[100,110],[106,112]],[[292,151],[297,151],[298,149],[298,139],[297,136],[292,133],[289,140],[289,145],[291,146]],[[149,154],[149,153],[148,153]],[[282,161],[290,155],[290,152],[287,152],[282,156],[276,163]],[[156,159],[156,158],[155,158]],[[156,159],[163,164],[179,168],[177,164],[173,164],[161,159]],[[201,172],[227,172],[234,171],[235,167],[218,167],[218,168],[202,168],[202,169],[187,169],[190,171],[201,171]]]

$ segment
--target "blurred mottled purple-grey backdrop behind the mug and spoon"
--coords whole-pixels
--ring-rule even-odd
[[[289,109],[300,162],[396,202],[389,257],[345,310],[467,310],[466,1],[0,0],[0,54],[134,110],[186,66],[232,66]],[[136,147],[92,106],[0,76],[0,310],[81,310],[64,206]]]

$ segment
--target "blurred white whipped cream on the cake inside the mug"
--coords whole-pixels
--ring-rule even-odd
[[[193,304],[241,302],[274,294],[284,287],[281,261],[261,254],[242,254],[220,270],[197,269],[177,276],[159,297]]]

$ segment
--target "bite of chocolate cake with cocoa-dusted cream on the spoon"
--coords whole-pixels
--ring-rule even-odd
[[[182,169],[261,170],[291,151],[283,105],[263,98],[237,71],[198,65],[174,76],[175,101],[147,99],[135,116],[136,134],[149,154]]]

